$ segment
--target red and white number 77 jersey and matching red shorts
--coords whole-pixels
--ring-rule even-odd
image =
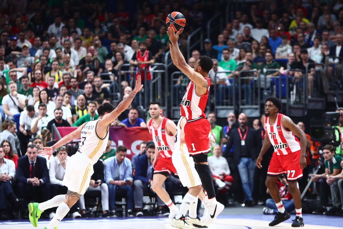
[[[264,129],[274,147],[273,157],[270,160],[268,176],[279,176],[287,173],[289,181],[296,181],[303,176],[300,169],[300,142],[292,131],[287,131],[282,126],[282,117],[278,113],[275,122],[271,125],[269,117],[264,118]]]

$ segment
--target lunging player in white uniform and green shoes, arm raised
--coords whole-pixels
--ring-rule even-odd
[[[82,124],[72,133],[64,136],[52,147],[41,147],[39,150],[41,156],[49,155],[58,147],[67,144],[69,141],[81,137],[81,145],[67,163],[66,173],[62,184],[68,187],[67,195],[58,195],[43,203],[28,204],[29,219],[34,227],[46,209],[58,207],[54,218],[51,219],[45,229],[57,228],[58,223],[68,214],[70,208],[79,200],[89,185],[93,174],[93,165],[99,160],[99,157],[106,149],[108,141],[108,130],[116,118],[128,108],[134,96],[143,88],[141,76],[137,77],[136,87],[131,94],[118,104],[117,107],[110,103],[104,103],[99,106],[99,118]]]

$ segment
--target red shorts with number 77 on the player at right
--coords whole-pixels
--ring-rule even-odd
[[[300,169],[300,150],[286,155],[273,154],[268,167],[268,176],[279,176],[287,173],[288,181],[296,181],[303,176],[303,170]]]

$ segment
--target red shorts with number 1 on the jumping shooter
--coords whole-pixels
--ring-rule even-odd
[[[187,122],[185,125],[185,142],[191,155],[211,152],[209,145],[210,122],[206,118]]]

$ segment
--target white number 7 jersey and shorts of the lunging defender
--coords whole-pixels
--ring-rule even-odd
[[[68,190],[84,194],[94,173],[93,165],[104,153],[108,142],[108,131],[105,138],[96,134],[96,125],[100,119],[90,121],[81,130],[81,145],[78,152],[70,157],[67,162],[66,173],[62,184]]]

